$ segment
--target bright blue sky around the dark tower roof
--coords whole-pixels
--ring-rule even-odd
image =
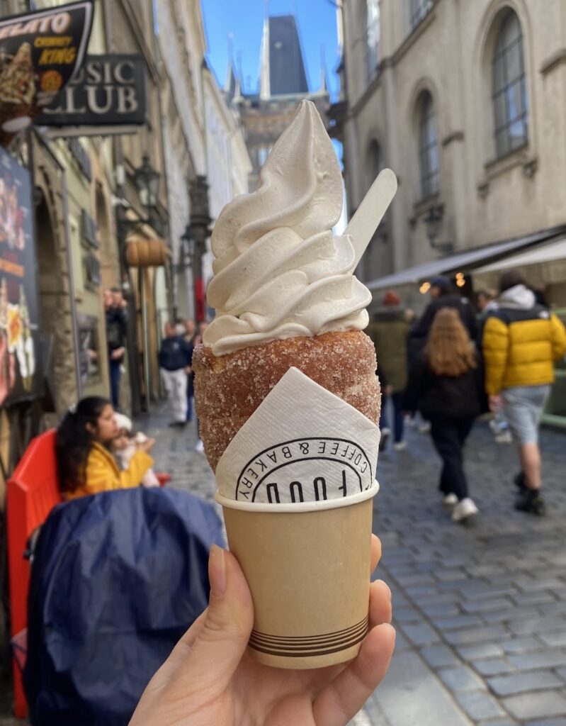
[[[309,88],[316,90],[321,78],[321,46],[327,65],[329,90],[337,92],[336,8],[329,0],[202,0],[208,40],[208,61],[223,85],[228,67],[228,37],[233,36],[234,60],[242,56],[245,91],[257,88],[261,33],[269,15],[294,14],[305,55]]]

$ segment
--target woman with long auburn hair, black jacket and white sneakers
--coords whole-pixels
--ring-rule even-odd
[[[479,356],[456,310],[438,311],[427,345],[409,371],[403,407],[430,420],[435,449],[443,460],[440,491],[454,505],[456,522],[477,514],[469,498],[462,449],[480,414],[483,388]]]

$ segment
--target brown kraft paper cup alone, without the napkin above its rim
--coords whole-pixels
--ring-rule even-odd
[[[309,669],[357,656],[368,631],[377,488],[351,503],[329,500],[327,507],[301,511],[294,505],[235,508],[238,502],[217,496],[230,551],[253,597],[249,651],[256,661]]]

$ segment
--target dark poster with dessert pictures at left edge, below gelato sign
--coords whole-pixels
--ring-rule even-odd
[[[0,149],[0,406],[41,394],[31,177]]]

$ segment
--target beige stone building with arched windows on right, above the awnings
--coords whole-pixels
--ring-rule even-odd
[[[565,224],[562,0],[345,0],[338,19],[350,214],[381,168],[399,180],[363,280]]]

